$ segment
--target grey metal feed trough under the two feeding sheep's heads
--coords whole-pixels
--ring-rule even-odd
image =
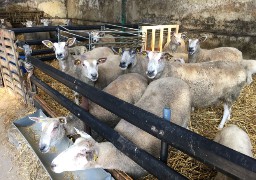
[[[30,145],[32,151],[40,160],[43,168],[46,170],[49,177],[53,180],[63,180],[63,179],[75,179],[75,180],[111,180],[111,174],[106,172],[104,169],[88,169],[76,172],[64,172],[64,173],[54,173],[51,171],[50,165],[52,160],[67,147],[69,147],[72,142],[67,138],[61,143],[57,144],[55,148],[52,148],[49,153],[41,153],[38,148],[39,137],[41,133],[41,123],[35,123],[29,119],[29,116],[33,117],[46,117],[41,109],[38,109],[35,113],[25,116],[19,120],[13,122],[13,125],[18,129],[21,135],[25,138],[26,142]]]

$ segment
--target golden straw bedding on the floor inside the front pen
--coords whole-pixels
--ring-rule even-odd
[[[49,63],[53,67],[58,67],[58,62],[52,61]],[[47,84],[52,86],[54,89],[59,90],[62,94],[73,100],[72,91],[64,86],[63,84],[53,80],[50,77],[36,72],[36,74],[42,78]],[[251,85],[246,86],[240,94],[238,100],[232,107],[232,117],[226,123],[236,124],[243,130],[245,130],[253,145],[253,155],[256,154],[256,77]],[[44,99],[50,108],[54,110],[58,115],[64,115],[68,111],[60,106],[58,103],[53,101],[48,95],[39,91],[39,95]],[[222,107],[211,107],[195,109],[191,114],[191,121],[189,128],[191,131],[198,133],[208,139],[213,139],[218,131],[217,127],[222,118],[223,108]],[[168,166],[172,167],[182,175],[189,179],[211,179],[216,175],[216,171],[207,167],[203,163],[191,158],[190,156],[175,150],[174,148],[169,149]],[[148,175],[142,179],[156,179],[152,175]]]

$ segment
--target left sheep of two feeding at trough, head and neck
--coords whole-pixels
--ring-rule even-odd
[[[73,114],[67,117],[29,117],[30,120],[42,124],[42,132],[39,141],[39,150],[42,153],[50,151],[51,147],[59,144],[68,135],[74,135],[74,127],[84,130],[84,122]]]

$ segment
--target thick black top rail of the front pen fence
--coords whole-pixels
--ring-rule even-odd
[[[36,58],[31,56],[28,58],[35,67],[81,95],[88,97],[91,101],[160,140],[167,142],[169,145],[210,165],[214,169],[233,178],[254,179],[256,177],[255,159],[213,142],[172,122],[162,121],[162,118],[95,89]]]

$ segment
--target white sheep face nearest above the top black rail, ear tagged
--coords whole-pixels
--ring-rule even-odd
[[[97,81],[98,74],[98,65],[106,62],[106,58],[97,59],[86,59],[83,61],[83,74],[90,79],[91,81]]]

